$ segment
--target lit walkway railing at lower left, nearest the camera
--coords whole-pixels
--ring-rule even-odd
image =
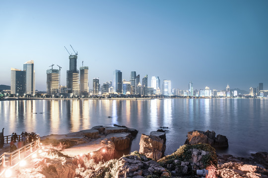
[[[26,158],[39,147],[40,147],[40,137],[37,140],[32,141],[22,146],[21,148],[16,149],[11,153],[7,152],[3,153],[0,156],[0,171],[1,168],[3,167],[13,166],[14,164],[18,163],[19,160]]]

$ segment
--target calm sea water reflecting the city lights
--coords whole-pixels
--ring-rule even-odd
[[[192,130],[226,135],[229,148],[220,153],[268,152],[268,99],[0,101],[0,129],[5,128],[5,135],[22,131],[41,136],[66,134],[113,124],[139,131],[131,151],[139,149],[141,134],[168,127],[166,154],[183,145]]]

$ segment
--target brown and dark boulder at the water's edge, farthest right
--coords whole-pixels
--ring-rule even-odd
[[[226,136],[218,134],[215,136],[215,132],[212,131],[192,131],[188,132],[187,139],[184,144],[197,144],[197,143],[207,143],[212,147],[226,148],[229,146],[228,139]]]

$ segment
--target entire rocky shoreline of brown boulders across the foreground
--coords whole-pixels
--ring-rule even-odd
[[[167,156],[164,156],[163,130],[141,134],[139,151],[122,156],[136,134],[135,129],[115,125],[44,136],[41,142],[46,151],[39,160],[32,160],[31,167],[19,169],[17,175],[20,178],[200,178],[197,170],[206,169],[207,178],[268,178],[267,152],[252,154],[250,158],[217,155],[213,147],[228,146],[228,139],[216,136],[213,131],[189,132],[186,144]]]

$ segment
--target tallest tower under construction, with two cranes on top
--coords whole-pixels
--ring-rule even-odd
[[[76,68],[77,54],[69,55],[69,70],[67,70],[67,93],[79,95],[79,71]]]

